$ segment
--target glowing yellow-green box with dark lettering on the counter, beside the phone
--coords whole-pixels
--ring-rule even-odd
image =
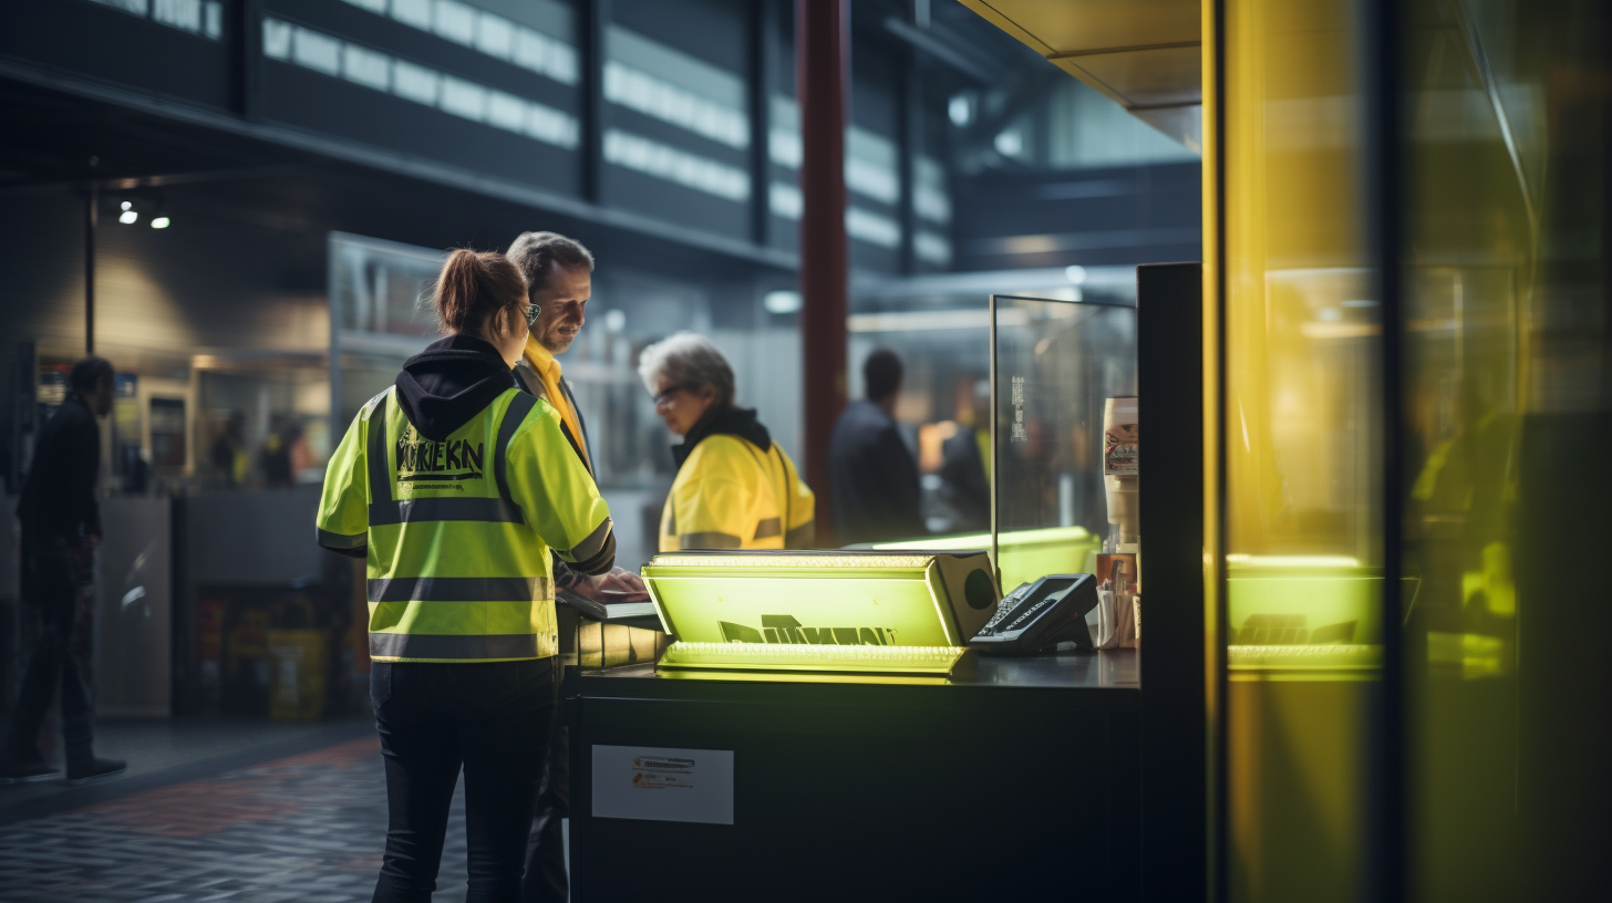
[[[643,582],[666,668],[945,671],[999,598],[977,551],[677,551]]]

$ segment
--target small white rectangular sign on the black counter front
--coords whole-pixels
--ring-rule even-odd
[[[733,751],[595,745],[593,816],[733,824]]]

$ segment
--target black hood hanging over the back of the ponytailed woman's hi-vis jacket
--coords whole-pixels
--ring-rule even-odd
[[[397,387],[408,422],[426,439],[443,442],[516,382],[490,342],[448,335],[409,358]]]

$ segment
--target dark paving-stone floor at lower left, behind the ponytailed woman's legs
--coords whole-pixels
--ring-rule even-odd
[[[376,739],[0,826],[0,901],[350,903],[385,840]],[[464,795],[434,900],[464,900]]]

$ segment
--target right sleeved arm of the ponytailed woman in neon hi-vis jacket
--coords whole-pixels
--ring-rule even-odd
[[[616,564],[609,505],[546,402],[538,402],[511,437],[505,479],[527,526],[572,571],[603,574]]]

